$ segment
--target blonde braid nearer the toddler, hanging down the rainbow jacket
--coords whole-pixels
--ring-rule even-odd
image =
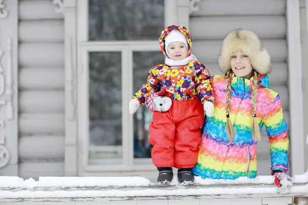
[[[232,78],[232,70],[227,72],[226,76],[226,117],[227,117],[227,134],[229,136],[229,143],[230,145],[234,139],[234,128],[230,121],[229,114],[230,114],[230,102],[231,102],[231,78]]]

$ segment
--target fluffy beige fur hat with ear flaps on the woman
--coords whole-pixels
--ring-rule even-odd
[[[223,40],[218,57],[220,70],[227,73],[232,69],[230,65],[231,54],[242,52],[249,57],[252,67],[259,74],[271,71],[271,56],[262,48],[258,35],[249,30],[237,29],[230,32]]]

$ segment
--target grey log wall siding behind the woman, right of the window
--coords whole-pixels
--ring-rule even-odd
[[[290,125],[286,61],[286,1],[201,0],[197,5],[199,10],[192,12],[189,16],[192,53],[208,68],[211,75],[223,75],[218,67],[218,54],[223,38],[230,31],[238,28],[255,31],[263,47],[271,55],[272,72],[269,74],[271,89],[280,94],[285,120]],[[271,161],[265,129],[262,130],[261,135],[261,141],[257,146],[258,175],[268,175],[271,173]]]

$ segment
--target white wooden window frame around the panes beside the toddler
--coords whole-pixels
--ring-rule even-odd
[[[78,175],[104,175],[115,172],[142,172],[156,170],[151,158],[141,159],[145,163],[136,163],[140,160],[133,156],[133,115],[129,114],[128,103],[133,91],[133,51],[160,51],[158,40],[148,41],[89,41],[88,40],[88,1],[77,0],[77,99],[78,99]],[[178,24],[178,8],[183,2],[189,0],[165,0],[165,25]],[[181,19],[183,18],[181,14]],[[189,8],[187,7],[187,19]],[[187,25],[188,26],[188,25]],[[122,151],[123,165],[88,165],[89,153],[89,106],[88,106],[88,81],[89,59],[88,52],[122,52]],[[154,65],[153,65],[154,66]],[[148,68],[150,69],[150,68]],[[127,131],[127,132],[126,132]],[[120,175],[120,174],[119,174]]]

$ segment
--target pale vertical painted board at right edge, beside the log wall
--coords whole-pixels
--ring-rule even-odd
[[[291,137],[291,173],[305,172],[305,136],[303,132],[303,93],[302,93],[302,58],[300,42],[299,1],[287,0],[287,46],[288,46],[288,86],[290,89]]]

